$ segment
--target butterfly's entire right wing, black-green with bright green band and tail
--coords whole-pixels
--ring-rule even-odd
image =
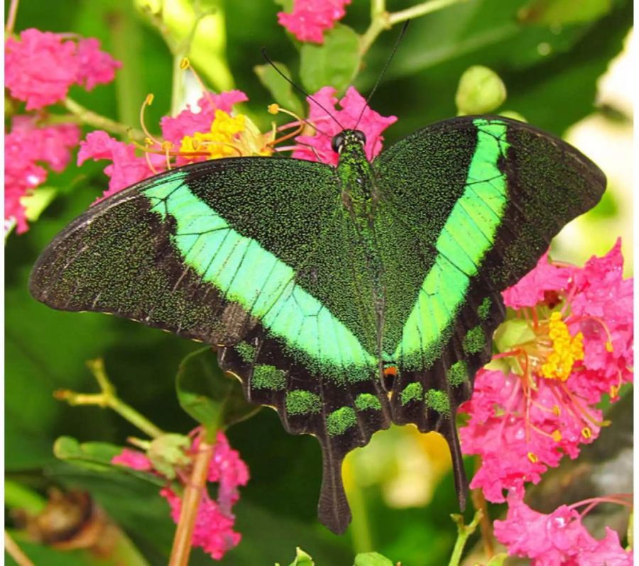
[[[403,317],[387,345],[397,365],[391,414],[447,438],[463,501],[454,417],[491,357],[505,316],[501,291],[599,201],[606,179],[562,140],[497,116],[424,128],[383,152],[373,169],[382,261],[391,266],[386,287],[392,294],[397,279],[420,282],[388,299],[401,313],[395,320]],[[398,262],[398,246],[408,260]]]

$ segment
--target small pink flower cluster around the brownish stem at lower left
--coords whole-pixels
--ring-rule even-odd
[[[198,446],[199,440],[196,438],[188,454],[194,455]],[[145,454],[137,450],[129,450],[129,448],[122,450],[122,453],[114,457],[111,463],[160,475],[153,469],[151,460]],[[224,554],[238,545],[241,539],[240,533],[233,530],[235,517],[231,509],[239,499],[237,488],[246,485],[249,481],[249,469],[239,457],[237,450],[230,447],[229,441],[221,432],[217,433],[217,442],[209,464],[207,480],[218,484],[217,499],[212,499],[206,490],[202,493],[195,519],[192,545],[202,548],[214,560],[221,560]],[[173,485],[169,482],[160,489],[160,495],[168,501],[171,517],[177,524],[182,509],[180,495],[175,492]]]

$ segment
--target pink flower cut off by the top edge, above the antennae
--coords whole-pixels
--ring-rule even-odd
[[[344,17],[351,0],[295,0],[291,13],[278,12],[278,22],[300,41],[324,43],[324,30]]]

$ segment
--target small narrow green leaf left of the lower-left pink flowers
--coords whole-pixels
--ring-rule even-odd
[[[154,474],[111,464],[113,457],[121,452],[121,446],[104,442],[85,442],[81,444],[70,436],[60,436],[53,444],[55,457],[85,470],[133,475],[160,486],[166,483],[164,479]]]

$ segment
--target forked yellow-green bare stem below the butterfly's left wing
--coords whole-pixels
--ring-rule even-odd
[[[163,431],[149,421],[148,418],[119,399],[116,395],[114,385],[109,381],[107,372],[104,371],[104,360],[102,360],[102,358],[89,360],[87,366],[98,382],[102,390],[101,393],[86,394],[72,392],[68,389],[60,389],[55,392],[53,396],[61,401],[67,401],[70,405],[97,405],[103,408],[108,407],[151,438],[158,438],[158,436],[163,435]]]

